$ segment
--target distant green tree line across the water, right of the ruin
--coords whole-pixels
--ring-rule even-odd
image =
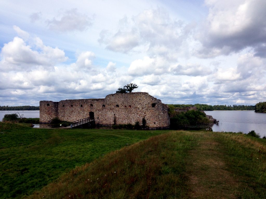
[[[207,104],[171,104],[176,108],[196,107],[199,111],[214,111],[214,110],[255,110],[252,105],[207,105]]]

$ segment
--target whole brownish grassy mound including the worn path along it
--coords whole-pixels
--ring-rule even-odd
[[[264,149],[246,135],[173,131],[77,167],[29,198],[265,198]]]

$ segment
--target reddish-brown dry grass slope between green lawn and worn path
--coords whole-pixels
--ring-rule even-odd
[[[29,198],[181,198],[193,139],[172,132],[78,167]]]

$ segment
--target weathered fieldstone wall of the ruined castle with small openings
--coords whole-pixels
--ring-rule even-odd
[[[86,117],[94,117],[95,124],[113,125],[142,123],[150,128],[170,126],[168,106],[148,93],[116,93],[104,99],[71,99],[60,102],[40,101],[40,122],[50,123],[58,117],[72,122]]]

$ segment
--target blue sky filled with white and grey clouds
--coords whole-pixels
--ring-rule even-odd
[[[104,98],[266,101],[265,0],[0,0],[0,106]]]

